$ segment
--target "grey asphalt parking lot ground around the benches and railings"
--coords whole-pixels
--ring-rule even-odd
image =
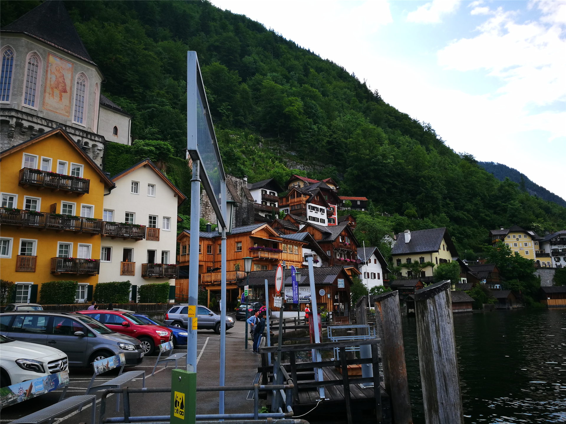
[[[248,351],[242,350],[244,347],[245,322],[236,321],[233,328],[226,332],[226,386],[239,384],[252,384],[257,367],[259,356],[252,353],[251,341],[248,341]],[[197,386],[218,386],[218,369],[220,362],[220,336],[212,330],[199,330],[198,334],[198,362],[197,362]],[[185,347],[174,349],[174,353],[186,351]],[[171,387],[171,369],[174,363],[164,369],[160,365],[153,376],[151,371],[155,365],[157,353],[144,357],[143,362],[127,370],[144,370],[145,387]],[[119,370],[111,370],[108,373],[99,375],[93,386],[97,386],[105,381],[117,377]],[[70,384],[67,388],[67,395],[82,395],[87,390],[92,378],[92,371],[85,369],[70,370]],[[141,378],[132,380],[129,387],[142,387]],[[97,407],[100,406],[102,391],[97,393]],[[36,412],[46,406],[57,403],[61,396],[61,390],[46,393],[34,399],[23,401],[22,403],[8,406],[2,409],[0,422],[8,423],[14,419]],[[115,411],[115,397],[111,395],[106,406],[106,417],[117,417],[123,414]],[[253,403],[247,401],[247,392],[226,392],[225,412],[252,412]],[[170,395],[169,393],[135,393],[130,395],[132,416],[155,416],[169,415]],[[85,406],[82,412],[72,412],[65,417],[55,421],[55,423],[79,423],[89,422],[91,406]],[[212,414],[218,413],[218,392],[197,393],[196,413]],[[98,416],[98,408],[97,408]],[[98,418],[97,418],[98,419]]]

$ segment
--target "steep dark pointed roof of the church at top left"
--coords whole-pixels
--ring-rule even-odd
[[[92,62],[62,1],[49,0],[2,28],[2,32],[24,33],[80,59]],[[96,65],[96,64],[95,64]]]

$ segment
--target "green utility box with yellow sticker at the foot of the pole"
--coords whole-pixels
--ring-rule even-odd
[[[195,424],[196,373],[171,371],[171,424]]]

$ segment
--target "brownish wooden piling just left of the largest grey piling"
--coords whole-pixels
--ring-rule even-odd
[[[375,297],[375,321],[381,339],[381,363],[385,391],[391,397],[395,424],[413,424],[409,382],[405,366],[405,348],[398,292]]]

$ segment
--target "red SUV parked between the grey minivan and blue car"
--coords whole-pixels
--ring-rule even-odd
[[[79,313],[100,321],[110,330],[138,339],[144,354],[152,353],[156,346],[173,340],[173,333],[168,328],[145,324],[132,314],[115,310],[82,310]]]

